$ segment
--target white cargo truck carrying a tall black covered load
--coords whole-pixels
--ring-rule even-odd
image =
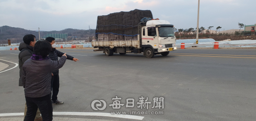
[[[143,53],[146,58],[153,58],[177,50],[174,25],[151,18],[150,10],[138,9],[98,16],[96,38],[92,42],[98,50],[94,51],[103,51],[106,56]]]

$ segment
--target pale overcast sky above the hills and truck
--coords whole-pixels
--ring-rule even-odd
[[[0,26],[95,29],[97,16],[134,9],[151,10],[178,29],[196,28],[198,0],[0,0]],[[239,29],[238,22],[256,24],[256,0],[200,0],[200,27]]]

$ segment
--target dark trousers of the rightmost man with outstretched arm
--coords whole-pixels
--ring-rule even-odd
[[[59,88],[60,88],[60,78],[59,78],[59,74],[56,74],[52,76],[52,80],[51,80],[52,101],[54,102],[57,100]]]

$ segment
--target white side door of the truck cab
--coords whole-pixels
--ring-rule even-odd
[[[155,26],[146,26],[142,28],[142,45],[151,45],[158,48],[157,31]]]

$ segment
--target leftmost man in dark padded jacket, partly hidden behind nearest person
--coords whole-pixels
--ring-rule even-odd
[[[18,58],[19,58],[19,68],[20,68],[19,86],[23,86],[22,81],[21,81],[22,65],[26,60],[28,60],[32,56],[33,47],[34,47],[35,44],[36,44],[36,36],[34,36],[32,34],[25,35],[23,37],[23,42],[20,43],[20,46],[19,46],[20,54],[18,56]],[[26,116],[26,112],[27,112],[27,105],[25,103],[24,117]],[[42,121],[42,117],[40,116],[40,114],[41,113],[38,109],[37,113],[36,113],[35,121]]]

